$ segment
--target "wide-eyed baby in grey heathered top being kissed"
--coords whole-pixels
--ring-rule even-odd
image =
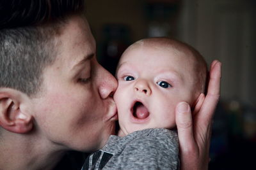
[[[179,169],[175,108],[195,108],[207,65],[194,48],[168,38],[137,41],[125,50],[114,99],[120,130],[82,169]]]

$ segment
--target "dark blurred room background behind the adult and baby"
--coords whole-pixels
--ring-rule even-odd
[[[167,36],[222,63],[209,169],[256,169],[255,0],[86,0],[99,62],[115,74],[122,52]]]

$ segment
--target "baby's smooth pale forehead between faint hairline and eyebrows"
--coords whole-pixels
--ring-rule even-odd
[[[168,48],[168,46],[141,46],[136,45],[124,53],[120,66],[148,66],[145,69],[159,67],[161,69],[172,69],[179,66],[192,66],[195,62],[186,53]]]

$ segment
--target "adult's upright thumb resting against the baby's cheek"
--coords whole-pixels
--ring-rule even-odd
[[[175,112],[180,148],[183,152],[184,150],[188,150],[189,152],[195,149],[196,146],[193,137],[193,120],[189,104],[186,102],[179,103]]]

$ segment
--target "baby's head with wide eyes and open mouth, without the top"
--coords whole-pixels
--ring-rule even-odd
[[[177,104],[186,101],[193,108],[204,93],[206,75],[202,55],[180,41],[148,38],[129,46],[116,69],[118,135],[175,127]]]

